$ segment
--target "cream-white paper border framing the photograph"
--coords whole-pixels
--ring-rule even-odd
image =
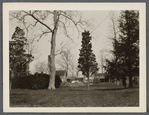
[[[11,10],[139,10],[139,107],[10,107],[9,11]],[[146,112],[146,3],[3,3],[3,112]]]

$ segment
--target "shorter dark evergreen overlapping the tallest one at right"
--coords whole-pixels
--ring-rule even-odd
[[[121,52],[121,44],[118,42],[118,40],[113,39],[113,50],[111,53],[113,54],[113,59],[112,60],[106,60],[106,74],[108,75],[108,78],[110,80],[120,80],[125,78],[125,65],[123,63],[123,56]],[[126,80],[123,80],[123,85],[126,88]]]

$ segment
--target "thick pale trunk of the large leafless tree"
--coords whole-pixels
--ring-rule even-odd
[[[52,38],[51,38],[51,60],[50,60],[50,81],[49,81],[49,87],[48,89],[54,90],[55,89],[55,47],[56,47],[56,33],[58,30],[58,13],[54,12],[54,29],[52,32]]]

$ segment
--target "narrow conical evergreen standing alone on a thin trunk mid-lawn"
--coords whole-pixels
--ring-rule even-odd
[[[80,57],[78,59],[78,68],[82,71],[82,74],[88,78],[88,90],[90,90],[89,77],[98,71],[98,64],[96,57],[93,53],[91,37],[88,31],[82,33],[82,48],[80,50]]]

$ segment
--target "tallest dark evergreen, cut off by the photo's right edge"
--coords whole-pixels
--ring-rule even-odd
[[[119,20],[121,53],[132,87],[132,76],[139,73],[139,12],[123,11]]]

